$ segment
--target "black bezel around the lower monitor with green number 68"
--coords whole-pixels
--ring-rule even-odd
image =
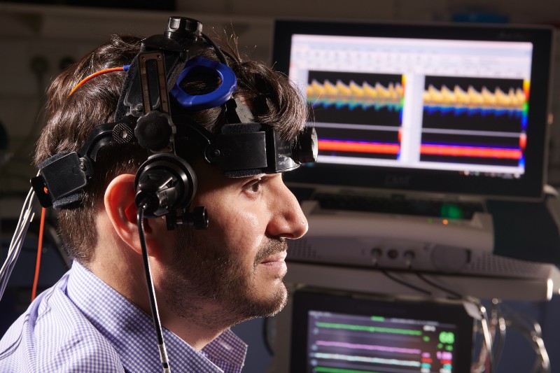
[[[453,373],[470,372],[475,346],[475,320],[460,302],[375,297],[315,288],[302,288],[292,295],[290,372],[304,372],[302,367],[307,369],[309,311],[360,316],[375,314],[456,325],[458,352],[454,355],[456,369]]]

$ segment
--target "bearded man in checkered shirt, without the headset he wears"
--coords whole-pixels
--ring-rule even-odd
[[[113,36],[55,78],[35,156],[39,169],[59,162],[58,154],[83,149],[97,125],[115,120],[122,111],[123,85],[130,85],[125,73],[103,73],[72,90],[92,73],[131,64],[141,43],[132,36]],[[147,209],[148,203],[138,204],[137,174],[154,152],[138,141],[99,148],[91,156],[94,172],[78,197],[65,195],[58,205],[55,201],[61,207],[59,231],[73,258],[72,268],[6,332],[0,342],[0,372],[161,371],[142,237],[169,366],[175,372],[241,370],[246,345],[229,328],[282,309],[286,239],[301,237],[307,220],[281,173],[224,171],[202,155],[204,144],[193,141],[196,136],[179,134],[193,122],[219,133],[237,104],[250,111],[251,122],[293,142],[302,132],[307,108],[285,76],[258,62],[242,61],[233,48],[223,49],[237,77],[235,103],[193,110],[170,101],[176,134],[169,144],[196,175],[198,187],[188,205],[205,206],[207,230],[184,225],[168,230],[172,213],[153,213],[139,225],[138,210]],[[218,60],[218,52],[207,46],[196,54]],[[181,90],[203,95],[223,83],[199,67],[181,80]],[[155,101],[164,103],[162,97]],[[243,111],[237,116],[244,117]]]

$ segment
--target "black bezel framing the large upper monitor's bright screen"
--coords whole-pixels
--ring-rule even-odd
[[[452,171],[367,168],[317,162],[311,167],[300,167],[286,174],[286,182],[292,185],[435,192],[496,199],[542,199],[547,178],[553,33],[552,27],[540,25],[276,20],[272,62],[274,69],[286,75],[289,73],[291,38],[294,34],[533,43],[526,168],[520,178],[465,176]],[[364,172],[367,169],[372,172]]]

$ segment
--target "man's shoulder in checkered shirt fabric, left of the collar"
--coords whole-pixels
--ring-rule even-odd
[[[42,293],[0,340],[0,372],[36,371],[123,372],[111,343],[60,286]]]

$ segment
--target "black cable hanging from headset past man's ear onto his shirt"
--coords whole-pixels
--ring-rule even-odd
[[[144,209],[146,209],[146,204],[141,204],[138,207],[138,234],[142,247],[142,259],[144,260],[144,271],[146,272],[146,281],[148,283],[148,297],[150,298],[150,308],[152,310],[155,334],[158,337],[158,349],[160,350],[163,372],[169,373],[171,370],[169,368],[169,360],[167,359],[167,351],[165,350],[165,342],[163,341],[162,325],[160,323],[160,314],[158,313],[158,303],[155,301],[155,290],[153,288],[150,260],[148,259],[148,248],[146,247],[146,237],[144,236]]]

